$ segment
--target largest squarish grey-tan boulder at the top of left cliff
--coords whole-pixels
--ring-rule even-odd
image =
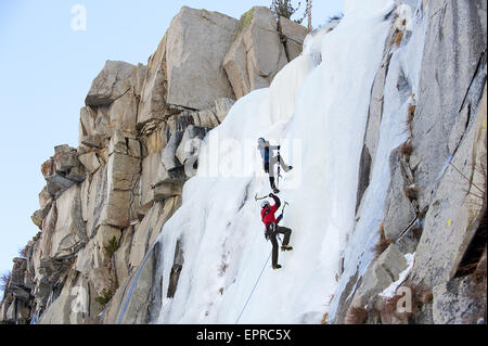
[[[234,97],[222,62],[237,23],[218,12],[181,9],[167,31],[168,104],[200,111]]]

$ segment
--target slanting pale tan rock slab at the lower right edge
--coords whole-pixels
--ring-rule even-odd
[[[485,86],[479,110],[472,117],[425,214],[412,270],[412,281],[415,283],[422,282],[433,287],[452,279],[478,230],[480,216],[486,208],[486,198],[484,201],[476,193],[486,187],[486,100]],[[464,177],[471,177],[471,180]],[[460,208],[460,205],[468,207]],[[442,235],[439,236],[439,233]]]

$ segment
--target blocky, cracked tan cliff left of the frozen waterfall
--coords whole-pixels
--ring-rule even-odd
[[[235,102],[222,64],[237,24],[182,8],[147,66],[105,63],[80,111],[78,148],[57,145],[41,166],[40,232],[14,259],[0,322],[149,321],[155,241],[193,174],[183,165],[196,167],[202,140]]]

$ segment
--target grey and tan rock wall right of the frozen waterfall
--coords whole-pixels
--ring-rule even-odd
[[[397,9],[412,5],[411,1],[397,4]],[[404,30],[401,42],[395,43],[399,31],[396,24],[391,26],[372,86],[357,219],[367,207],[361,200],[377,155],[388,76],[398,74],[398,95],[408,105],[409,137],[389,155],[390,182],[382,229],[383,241],[393,244],[370,260],[362,275],[357,271],[343,278],[347,282],[336,298],[338,308],[331,322],[355,320],[358,312],[354,308],[365,306],[367,323],[486,323],[486,269],[479,269],[483,261],[486,268],[479,253],[485,248],[486,254],[486,238],[483,241],[480,234],[486,234],[487,204],[487,42],[486,35],[479,34],[486,30],[486,11],[484,1],[421,3],[418,21],[426,23],[426,29],[416,90],[414,80],[404,78],[401,69],[398,74],[394,65],[396,51],[412,36]],[[395,309],[400,295],[390,299],[380,296],[398,280],[381,267],[391,246],[400,255],[414,255],[410,271],[398,283],[412,294],[414,308],[408,313]],[[387,262],[398,266],[404,261],[396,257]]]

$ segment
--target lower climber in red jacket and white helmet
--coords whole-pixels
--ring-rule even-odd
[[[280,198],[270,194],[270,197],[274,200],[274,205],[270,205],[268,201],[262,202],[261,205],[261,218],[262,222],[266,226],[266,239],[271,240],[271,244],[273,245],[273,254],[272,254],[272,266],[273,269],[280,269],[281,266],[278,264],[278,234],[284,234],[283,244],[281,246],[281,251],[292,251],[293,247],[288,245],[290,236],[292,235],[292,230],[286,227],[280,227],[278,223],[283,218],[283,214],[281,214],[278,218],[274,217],[274,213],[277,213],[278,208],[281,205]]]

